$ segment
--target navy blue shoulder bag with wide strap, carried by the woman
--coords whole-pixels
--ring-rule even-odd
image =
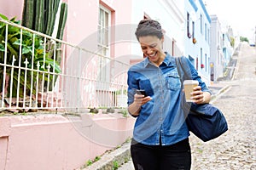
[[[191,72],[188,63],[182,58],[176,57],[175,59],[177,71],[183,84],[184,80],[191,80],[192,77],[190,76]],[[202,141],[207,142],[215,139],[228,130],[224,114],[214,105],[187,103],[183,96],[182,107],[183,111],[188,113],[186,123],[189,131]]]

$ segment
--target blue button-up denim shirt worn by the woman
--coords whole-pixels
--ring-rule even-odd
[[[188,59],[192,78],[202,91],[209,91]],[[185,114],[181,108],[183,91],[175,58],[166,53],[158,67],[148,58],[132,65],[128,71],[128,105],[134,100],[136,89],[143,89],[152,99],[141,106],[135,122],[133,139],[148,145],[170,145],[189,137]]]

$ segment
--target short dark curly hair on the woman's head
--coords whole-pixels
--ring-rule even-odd
[[[145,36],[156,36],[160,39],[163,37],[163,32],[161,25],[158,21],[144,19],[139,22],[135,35],[137,37],[137,40],[139,39],[139,37]]]

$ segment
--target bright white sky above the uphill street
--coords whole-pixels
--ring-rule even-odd
[[[235,36],[253,38],[256,0],[203,0],[208,14],[216,14],[222,26],[231,26]]]

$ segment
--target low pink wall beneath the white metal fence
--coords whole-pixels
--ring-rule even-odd
[[[0,117],[0,169],[81,167],[131,137],[133,123],[120,114]]]

